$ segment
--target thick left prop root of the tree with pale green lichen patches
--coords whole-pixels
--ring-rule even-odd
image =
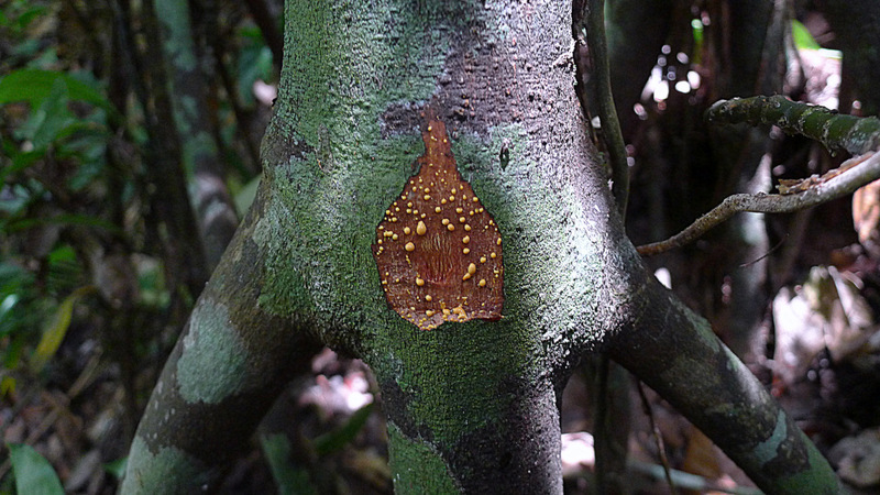
[[[265,196],[261,190],[258,198]],[[254,242],[255,201],[172,351],[129,453],[121,493],[190,494],[223,466],[320,345],[301,321],[260,307],[264,246]]]

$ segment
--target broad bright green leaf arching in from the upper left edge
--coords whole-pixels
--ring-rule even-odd
[[[72,75],[30,68],[14,70],[0,79],[0,105],[26,101],[32,107],[37,107],[52,94],[56,81],[67,86],[72,100],[86,101],[96,107],[113,111],[113,106],[98,89],[76,79]]]

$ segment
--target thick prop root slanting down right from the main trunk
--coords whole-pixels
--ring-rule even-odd
[[[652,277],[637,299],[630,327],[609,342],[613,360],[669,400],[766,493],[839,493],[818,450],[705,319]]]

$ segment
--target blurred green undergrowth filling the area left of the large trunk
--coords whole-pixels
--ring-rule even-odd
[[[204,265],[199,251],[174,260],[200,240],[196,229],[175,231],[190,204],[157,174],[164,160],[180,170],[165,174],[179,190],[193,180],[179,147],[154,152],[168,91],[146,69],[162,64],[145,46],[156,30],[150,4],[0,6],[0,424],[3,450],[13,449],[0,455],[0,493],[13,480],[19,493],[42,486],[22,485],[41,459],[23,443],[67,491],[112,490],[145,394],[207,277],[179,270]],[[201,131],[243,209],[272,99],[254,87],[271,89],[275,61],[238,2],[194,13],[211,75]],[[77,469],[86,471],[72,485]]]

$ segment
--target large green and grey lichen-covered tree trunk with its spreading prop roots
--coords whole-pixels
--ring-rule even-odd
[[[123,493],[212,486],[218,452],[318,344],[374,372],[399,493],[561,493],[558,394],[605,348],[765,490],[836,490],[625,237],[573,89],[570,6],[289,0],[285,22],[263,186],[153,393]],[[421,331],[386,304],[371,245],[425,151],[426,108],[501,230],[498,321]]]

